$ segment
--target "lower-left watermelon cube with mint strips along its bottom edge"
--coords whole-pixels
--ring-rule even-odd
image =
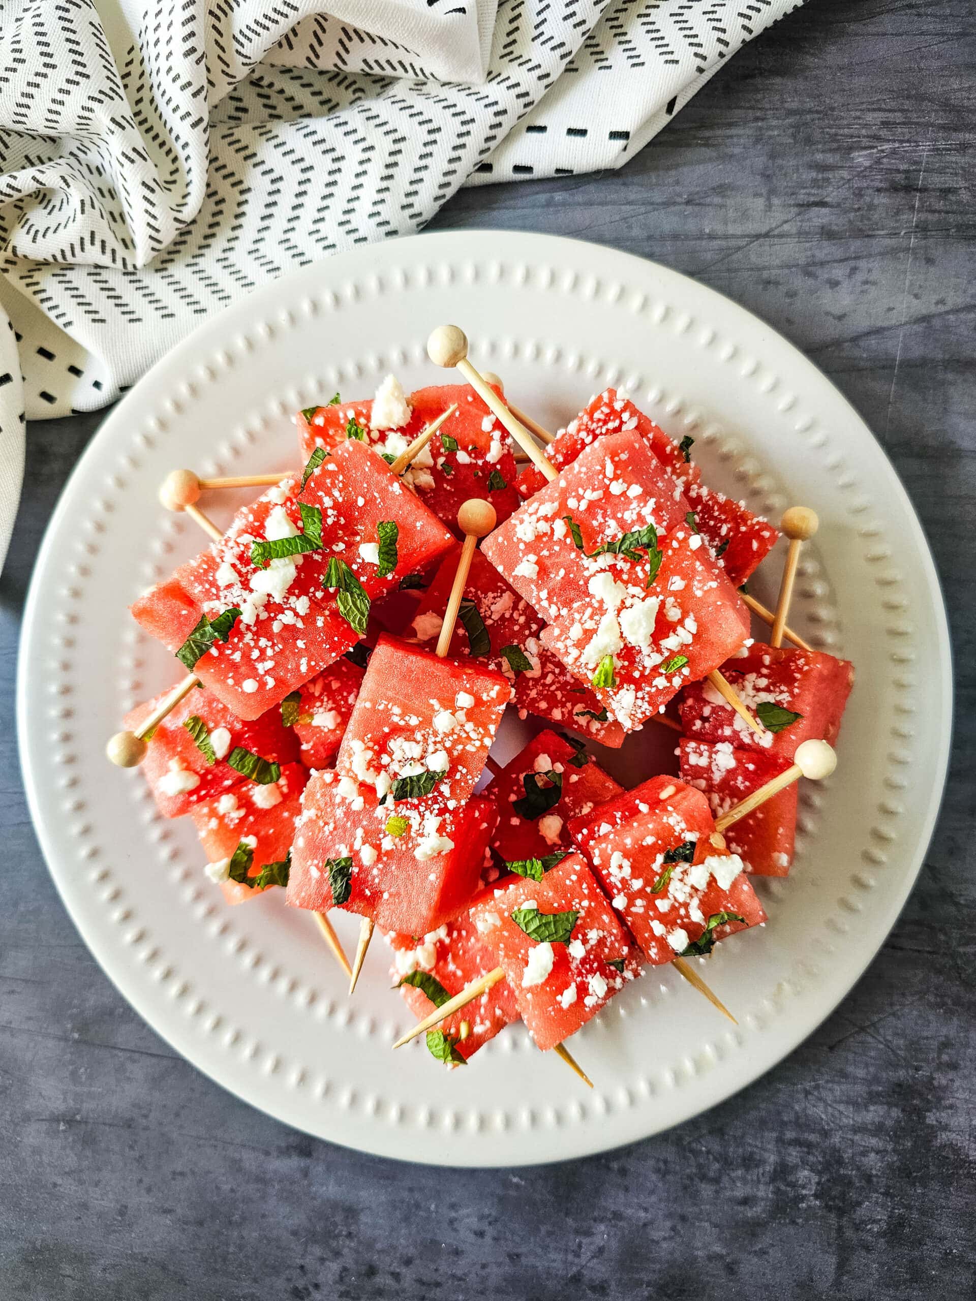
[[[245,903],[264,892],[228,878],[230,857],[242,840],[254,850],[249,877],[256,877],[268,863],[288,859],[307,778],[301,764],[286,764],[271,786],[245,782],[190,811],[212,865],[207,876],[220,882],[228,903]]]

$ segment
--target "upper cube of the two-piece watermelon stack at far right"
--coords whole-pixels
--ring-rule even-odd
[[[738,749],[764,749],[793,758],[804,740],[833,744],[854,682],[854,665],[821,650],[787,650],[755,641],[744,654],[722,665],[722,673],[753,713],[761,705],[799,714],[793,722],[773,714],[770,727],[753,732],[707,682],[691,684],[681,700],[685,735],[727,742]],[[769,716],[768,716],[769,717]]]

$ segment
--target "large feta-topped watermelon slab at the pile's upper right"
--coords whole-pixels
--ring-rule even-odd
[[[748,636],[748,613],[634,432],[586,448],[483,543],[547,621],[543,645],[625,729]]]

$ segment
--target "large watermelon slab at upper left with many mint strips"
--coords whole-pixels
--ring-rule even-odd
[[[311,550],[271,559],[252,554],[255,544],[290,545],[286,540],[299,535]],[[229,709],[251,719],[355,645],[370,602],[450,543],[389,467],[353,440],[314,468],[305,487],[297,476],[285,479],[238,511],[220,541],[131,613]],[[381,559],[390,562],[389,572]],[[203,617],[220,631],[203,622],[210,635],[190,653],[187,637]]]

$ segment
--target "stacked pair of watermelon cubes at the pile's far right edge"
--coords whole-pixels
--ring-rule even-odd
[[[804,740],[833,744],[854,683],[848,660],[753,641],[722,673],[764,725],[751,731],[707,682],[681,700],[681,775],[708,795],[716,817],[783,773]],[[793,863],[798,786],[733,824],[729,846],[746,869],[785,877]]]

